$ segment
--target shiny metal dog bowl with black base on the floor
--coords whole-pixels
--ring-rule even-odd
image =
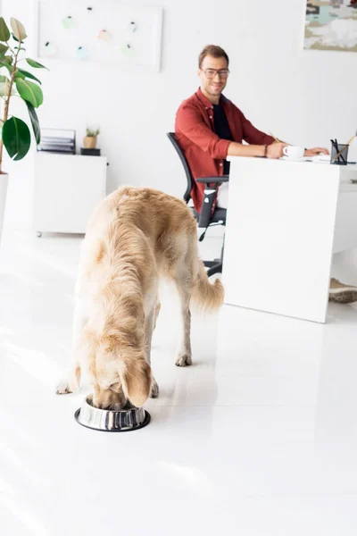
[[[130,407],[120,411],[99,409],[93,406],[92,396],[84,399],[74,414],[77,423],[91,430],[132,431],[144,428],[150,423],[150,414],[143,407]]]

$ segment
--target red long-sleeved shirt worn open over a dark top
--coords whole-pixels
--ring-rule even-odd
[[[225,96],[220,98],[228,119],[233,141],[245,140],[253,145],[270,145],[274,138],[253,127],[245,115]],[[223,162],[227,158],[228,139],[214,133],[213,105],[201,89],[179,106],[175,124],[176,138],[183,150],[194,179],[223,175]],[[194,182],[191,197],[200,212],[203,204],[204,184]]]

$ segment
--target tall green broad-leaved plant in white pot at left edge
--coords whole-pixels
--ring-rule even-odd
[[[26,62],[36,69],[46,69],[44,65],[24,57],[26,49],[24,40],[27,38],[26,30],[21,22],[10,19],[11,30],[4,18],[0,17],[0,98],[2,103],[2,117],[0,120],[0,241],[4,223],[4,208],[8,184],[8,174],[3,172],[3,149],[13,160],[21,160],[29,152],[31,135],[28,125],[10,115],[10,101],[12,96],[20,97],[27,105],[29,119],[37,144],[40,141],[40,129],[36,108],[43,103],[41,82],[31,72],[22,69]],[[4,74],[3,74],[4,73]]]

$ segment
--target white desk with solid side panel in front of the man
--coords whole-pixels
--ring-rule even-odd
[[[332,254],[357,247],[357,165],[229,160],[225,302],[325,322]]]

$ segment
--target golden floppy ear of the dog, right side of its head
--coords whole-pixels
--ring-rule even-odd
[[[120,370],[120,379],[130,402],[137,407],[144,406],[150,396],[152,382],[151,367],[144,357],[126,360],[124,370]]]

